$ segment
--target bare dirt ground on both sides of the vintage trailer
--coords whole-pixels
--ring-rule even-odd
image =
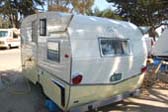
[[[21,75],[20,50],[0,50],[0,62],[0,112],[48,112],[39,88]],[[98,112],[167,112],[166,86],[155,85],[138,98],[130,97],[99,108]]]

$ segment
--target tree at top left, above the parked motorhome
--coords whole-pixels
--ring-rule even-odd
[[[1,0],[0,13],[9,19],[12,27],[19,28],[23,17],[34,14],[36,6],[43,4],[40,0]]]

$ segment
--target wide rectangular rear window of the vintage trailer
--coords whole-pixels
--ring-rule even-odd
[[[129,55],[129,40],[126,39],[99,39],[102,56]]]

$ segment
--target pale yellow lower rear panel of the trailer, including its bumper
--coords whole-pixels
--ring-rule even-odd
[[[144,74],[123,80],[112,85],[72,86],[69,110],[73,112],[88,111],[89,108],[102,107],[126,97],[137,91],[143,82]],[[76,103],[78,101],[78,103]]]

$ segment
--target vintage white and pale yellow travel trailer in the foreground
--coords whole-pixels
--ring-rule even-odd
[[[147,48],[137,26],[46,12],[21,25],[23,74],[64,111],[123,99],[141,85]]]

